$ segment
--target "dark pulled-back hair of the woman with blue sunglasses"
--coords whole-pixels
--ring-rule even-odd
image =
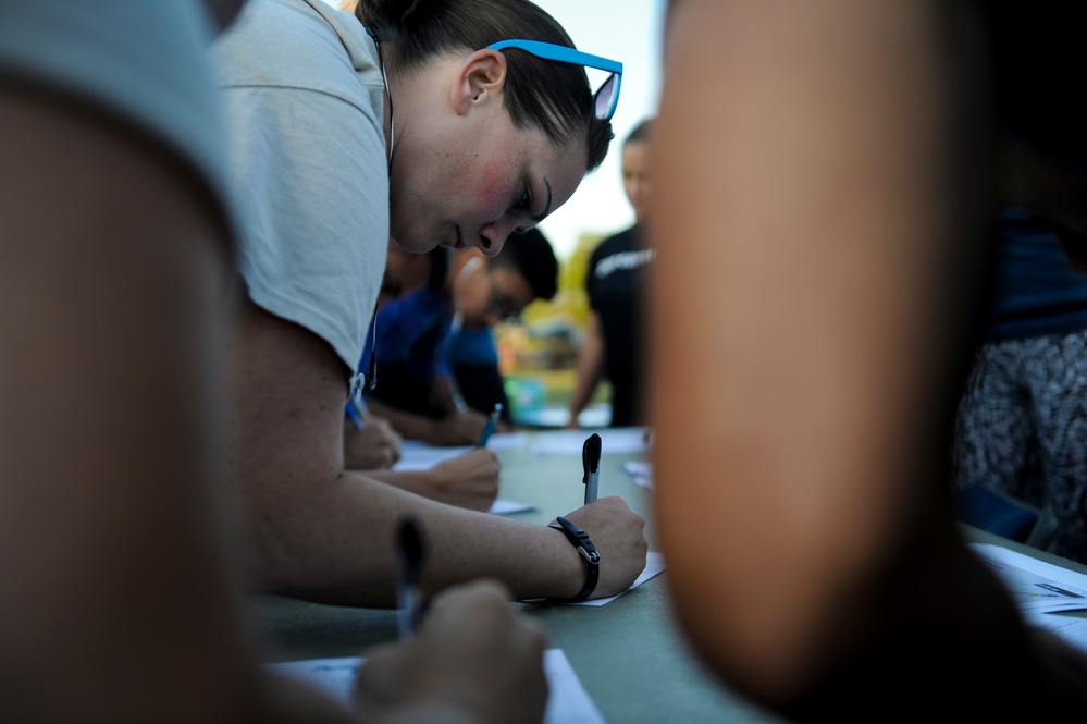
[[[474,52],[498,40],[573,47],[563,26],[528,0],[360,0],[355,15],[381,39],[391,64],[411,69],[438,53]],[[585,69],[517,48],[506,57],[505,103],[514,125],[536,126],[555,144],[586,137],[585,171],[600,167],[614,134],[595,118]]]

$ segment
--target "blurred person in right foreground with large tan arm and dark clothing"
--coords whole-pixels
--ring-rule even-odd
[[[1087,705],[1087,656],[1026,625],[966,547],[947,465],[1006,171],[996,135],[1087,171],[1080,29],[1048,16],[1061,8],[669,4],[655,521],[692,645],[787,719]]]

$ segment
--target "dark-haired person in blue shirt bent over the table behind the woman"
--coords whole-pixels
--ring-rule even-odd
[[[493,258],[452,254],[438,249],[411,267],[391,265],[399,270],[386,274],[392,290],[409,290],[410,282],[397,279],[418,280],[423,270],[427,281],[382,304],[359,366],[365,371],[371,357],[376,365],[376,386],[363,390],[368,412],[403,437],[434,445],[472,444],[496,403],[508,409],[493,327],[536,298],[553,297],[558,285],[558,260],[534,229],[514,234]]]

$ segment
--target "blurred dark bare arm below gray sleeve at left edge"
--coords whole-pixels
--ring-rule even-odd
[[[155,144],[72,108],[0,89],[0,720],[260,721],[219,525],[230,242]],[[100,414],[61,440],[74,400]]]

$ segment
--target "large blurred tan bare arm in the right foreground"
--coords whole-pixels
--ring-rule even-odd
[[[682,373],[653,390],[658,531],[696,646],[774,704],[891,634],[885,612],[915,625],[879,603],[903,590],[903,541],[951,527],[944,424],[984,267],[960,165],[984,138],[951,140],[950,99],[969,96],[930,45],[955,8],[671,15],[652,232],[676,253],[654,265],[651,324],[655,368]]]

